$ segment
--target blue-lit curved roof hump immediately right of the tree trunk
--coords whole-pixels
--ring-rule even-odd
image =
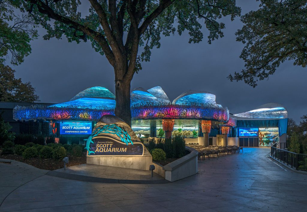
[[[136,88],[130,93],[131,105],[134,104],[146,104],[146,103],[160,103],[157,97],[153,96],[151,93],[144,91],[142,88]]]

